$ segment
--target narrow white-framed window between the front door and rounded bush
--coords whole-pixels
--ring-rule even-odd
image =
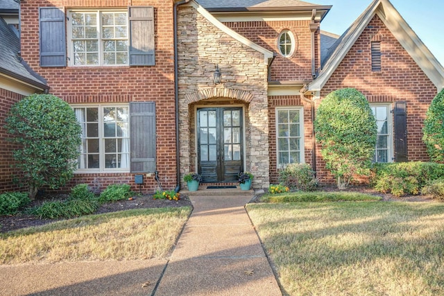
[[[304,162],[304,123],[302,108],[276,109],[278,168]]]

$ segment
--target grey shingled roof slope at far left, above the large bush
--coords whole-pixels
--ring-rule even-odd
[[[49,89],[46,80],[35,73],[19,56],[20,41],[0,17],[0,75],[15,78],[37,89]]]

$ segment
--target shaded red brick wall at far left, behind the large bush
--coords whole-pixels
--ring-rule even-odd
[[[22,98],[21,94],[0,88],[0,193],[23,189],[13,182],[13,175],[17,175],[18,171],[11,168],[11,165],[14,164],[12,152],[17,149],[17,145],[8,141],[10,135],[3,128],[6,124],[10,107]]]

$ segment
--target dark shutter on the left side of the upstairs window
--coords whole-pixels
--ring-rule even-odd
[[[40,66],[65,67],[67,51],[65,41],[65,12],[63,8],[39,8]]]

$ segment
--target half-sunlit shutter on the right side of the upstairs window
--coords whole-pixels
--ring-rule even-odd
[[[154,8],[128,8],[130,24],[130,66],[155,65]]]

